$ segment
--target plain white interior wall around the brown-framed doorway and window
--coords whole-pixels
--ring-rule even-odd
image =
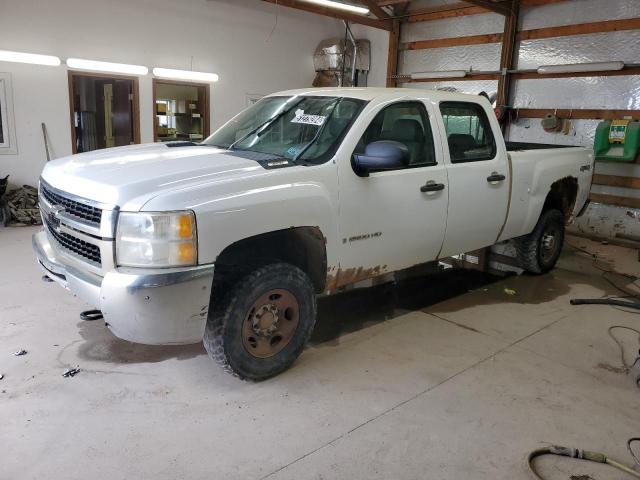
[[[371,41],[370,86],[384,86],[388,33],[356,25]],[[0,49],[215,72],[211,125],[246,107],[247,94],[310,86],[313,52],[341,36],[340,21],[258,0],[0,0]],[[17,155],[0,155],[0,174],[34,184],[45,162],[71,153],[67,70],[0,62],[12,77]],[[153,140],[151,75],[139,77],[141,141]]]

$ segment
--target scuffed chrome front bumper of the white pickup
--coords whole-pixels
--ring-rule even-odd
[[[123,269],[104,277],[65,264],[46,232],[33,235],[45,274],[102,311],[124,340],[149,345],[202,341],[209,312],[213,265],[182,269]]]

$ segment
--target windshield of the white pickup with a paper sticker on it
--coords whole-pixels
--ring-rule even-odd
[[[320,163],[333,154],[364,104],[344,97],[267,97],[203,143]]]

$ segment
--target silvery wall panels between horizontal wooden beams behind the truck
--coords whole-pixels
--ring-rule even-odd
[[[442,5],[436,0],[414,2],[412,9]],[[640,17],[639,0],[571,0],[523,8],[519,30]],[[401,42],[502,32],[504,17],[494,13],[405,23]],[[438,70],[499,70],[500,44],[469,45],[400,52],[398,74]],[[640,31],[571,35],[523,40],[516,46],[516,67],[621,60],[640,63]],[[497,81],[446,81],[405,83],[411,88],[455,88],[466,93],[495,92]],[[640,76],[526,79],[512,83],[512,103],[519,108],[640,109]],[[540,119],[520,118],[507,138],[565,145],[593,146],[598,120],[572,120],[567,135],[546,133]],[[598,163],[596,173],[640,178],[640,165]],[[640,198],[640,190],[594,185],[594,193]],[[594,204],[573,227],[586,234],[640,237],[640,212],[636,209]]]

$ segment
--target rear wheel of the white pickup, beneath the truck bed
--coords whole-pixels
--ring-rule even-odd
[[[563,243],[564,215],[560,210],[547,210],[533,232],[514,240],[518,263],[529,273],[546,273],[556,265]]]

